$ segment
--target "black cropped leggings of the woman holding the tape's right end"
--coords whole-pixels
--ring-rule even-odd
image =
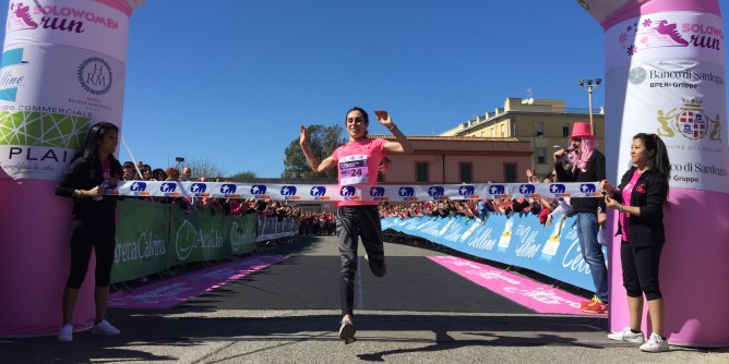
[[[620,260],[623,267],[623,287],[629,298],[640,298],[645,293],[648,301],[662,298],[658,284],[658,246],[633,246],[626,242],[620,244]]]

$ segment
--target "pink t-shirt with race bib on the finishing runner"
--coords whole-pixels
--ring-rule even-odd
[[[385,139],[366,138],[350,142],[334,150],[332,158],[337,163],[339,185],[378,184],[378,169],[385,157]],[[337,206],[378,205],[377,201],[340,201]]]

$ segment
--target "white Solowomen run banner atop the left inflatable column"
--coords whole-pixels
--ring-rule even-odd
[[[129,16],[98,3],[79,0],[11,0],[5,45],[28,43],[71,46],[127,61]]]

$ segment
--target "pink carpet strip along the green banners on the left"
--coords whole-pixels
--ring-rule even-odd
[[[131,292],[118,291],[109,298],[109,307],[169,308],[287,257],[286,255],[252,256],[147,284]]]

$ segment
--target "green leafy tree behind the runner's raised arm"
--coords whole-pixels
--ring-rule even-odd
[[[338,146],[347,143],[343,137],[344,129],[340,125],[324,126],[320,124],[307,126],[307,134],[309,135],[309,147],[314,156],[321,161],[334,153]],[[325,174],[316,174],[303,157],[303,151],[299,146],[299,138],[295,138],[286,147],[284,151],[286,159],[284,159],[284,172],[282,178],[328,178],[336,179],[337,169],[333,168]]]

